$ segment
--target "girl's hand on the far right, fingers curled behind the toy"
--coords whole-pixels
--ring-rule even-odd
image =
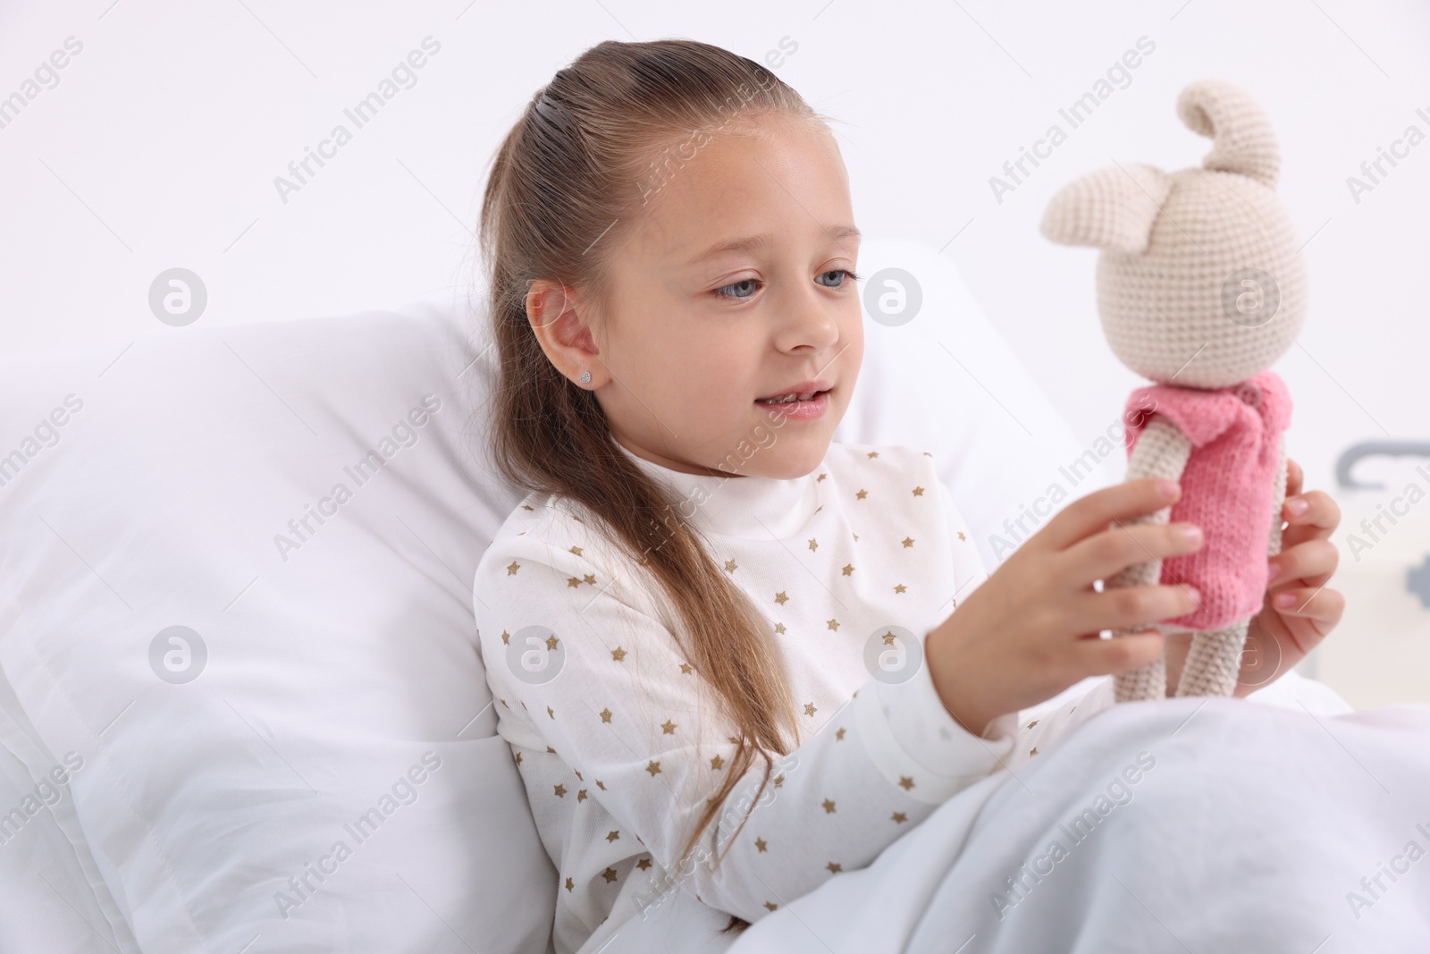
[[[1324,491],[1301,493],[1303,476],[1301,465],[1287,458],[1281,513],[1290,526],[1281,533],[1281,552],[1267,565],[1266,602],[1247,629],[1248,649],[1256,651],[1243,654],[1237,697],[1268,685],[1300,662],[1346,609],[1346,596],[1326,588],[1340,561],[1330,541],[1340,525],[1340,506]],[[1288,605],[1283,606],[1283,599]]]

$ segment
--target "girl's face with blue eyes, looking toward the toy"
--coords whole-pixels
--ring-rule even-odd
[[[565,346],[561,330],[542,335],[569,378],[591,372],[615,439],[672,471],[809,473],[864,360],[839,152],[804,120],[771,116],[761,129],[671,150],[645,185],[648,215],[612,252],[599,320],[572,297],[592,335]],[[811,402],[758,400],[815,389]]]

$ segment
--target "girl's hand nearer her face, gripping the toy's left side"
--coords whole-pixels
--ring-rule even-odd
[[[1297,473],[1297,476],[1300,476]],[[1052,698],[1090,675],[1135,669],[1163,651],[1157,629],[1101,639],[1197,608],[1187,586],[1125,586],[1097,592],[1133,564],[1190,554],[1201,533],[1188,523],[1124,523],[1181,496],[1161,481],[1118,483],[1074,501],[958,604],[925,639],[925,661],[948,712],[974,735],[1005,712]],[[1300,488],[1297,488],[1300,489]],[[1303,518],[1298,518],[1303,519]],[[1283,558],[1287,574],[1300,562]],[[1296,558],[1297,561],[1300,558]]]

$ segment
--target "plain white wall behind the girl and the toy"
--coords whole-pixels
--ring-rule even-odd
[[[1143,383],[1107,349],[1095,253],[1037,230],[1051,193],[1098,166],[1200,162],[1175,119],[1200,76],[1248,89],[1283,147],[1311,313],[1277,366],[1293,456],[1313,485],[1367,438],[1430,439],[1430,143],[1357,203],[1347,176],[1416,124],[1430,133],[1430,10],[1399,0],[676,4],[153,0],[0,6],[0,96],[83,43],[0,129],[0,349],[183,333],[147,306],[196,272],[207,325],[400,306],[466,287],[485,164],[532,90],[602,39],[688,36],[776,69],[838,126],[865,233],[947,243],[974,293],[1087,441]],[[275,176],[423,37],[440,51],[317,176]],[[998,203],[988,177],[1137,39],[1155,51]],[[350,123],[347,123],[352,126]],[[957,239],[954,236],[958,235]],[[950,362],[950,373],[962,373]],[[997,390],[998,383],[984,382]]]

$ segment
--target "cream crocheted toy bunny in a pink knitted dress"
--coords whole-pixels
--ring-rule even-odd
[[[1127,479],[1170,478],[1183,493],[1131,522],[1191,521],[1205,533],[1197,552],[1135,564],[1104,589],[1195,586],[1195,611],[1157,624],[1193,634],[1177,695],[1231,695],[1267,559],[1281,551],[1291,399],[1267,369],[1300,332],[1306,270],[1260,106],[1230,83],[1200,80],[1177,97],[1177,116],[1213,140],[1200,169],[1114,164],[1083,176],[1052,196],[1042,235],[1103,250],[1103,330],[1117,358],[1154,382],[1127,402]],[[1115,678],[1118,702],[1165,692],[1165,657]]]

